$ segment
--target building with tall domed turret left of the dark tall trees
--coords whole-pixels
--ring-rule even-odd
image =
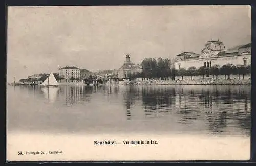
[[[142,72],[142,65],[135,64],[130,61],[130,56],[126,55],[125,62],[123,65],[118,69],[118,78],[125,79],[129,78],[130,74]]]

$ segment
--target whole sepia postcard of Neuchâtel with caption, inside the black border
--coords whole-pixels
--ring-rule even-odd
[[[7,161],[249,160],[251,6],[8,6]]]

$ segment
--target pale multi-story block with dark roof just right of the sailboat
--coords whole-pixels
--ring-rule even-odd
[[[80,69],[77,67],[66,66],[59,69],[59,76],[62,77],[60,82],[79,82]]]

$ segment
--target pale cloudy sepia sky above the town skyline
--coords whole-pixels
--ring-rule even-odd
[[[130,55],[173,58],[251,42],[250,6],[8,7],[7,82],[76,66],[118,69]]]

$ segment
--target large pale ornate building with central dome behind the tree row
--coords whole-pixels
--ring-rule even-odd
[[[175,69],[201,66],[232,64],[236,66],[251,64],[251,43],[226,49],[222,41],[208,41],[200,54],[183,52],[175,58]]]

